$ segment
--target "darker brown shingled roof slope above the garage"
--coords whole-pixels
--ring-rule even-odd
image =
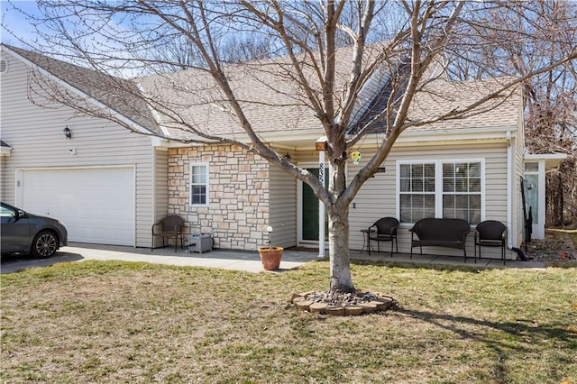
[[[29,60],[38,68],[49,72],[51,76],[59,78],[68,83],[69,86],[123,115],[133,123],[151,131],[151,133],[160,133],[160,128],[150,107],[142,99],[140,90],[133,81],[111,77],[94,69],[86,69],[66,61],[52,59],[41,53],[23,50],[7,44],[2,45]]]

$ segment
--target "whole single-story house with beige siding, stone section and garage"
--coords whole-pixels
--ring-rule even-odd
[[[216,248],[255,250],[268,239],[269,225],[276,245],[318,244],[318,201],[307,185],[241,146],[192,143],[191,133],[170,122],[171,111],[179,109],[199,130],[248,142],[223,105],[196,103],[189,93],[188,104],[183,104],[181,92],[188,85],[201,90],[198,101],[214,93],[210,79],[194,71],[139,78],[137,89],[126,84],[125,97],[111,98],[84,84],[96,76],[94,72],[14,47],[2,48],[2,59],[7,60],[0,75],[2,140],[12,149],[3,150],[4,200],[60,216],[70,227],[72,242],[149,246],[151,224],[163,215],[176,214],[185,218],[189,233],[211,233]],[[51,65],[42,66],[42,60]],[[64,73],[74,73],[72,68],[79,71],[83,82],[78,84],[78,76],[62,75],[60,68]],[[27,90],[37,87],[32,72],[85,96],[87,114],[32,104],[32,92]],[[298,166],[318,172],[315,142],[322,133],[316,116],[296,103],[275,103],[276,98],[294,92],[290,84],[274,84],[273,91],[270,83],[247,70],[235,73],[234,84],[243,100],[253,102],[245,110],[261,138]],[[439,108],[450,111],[477,95],[479,87],[494,86],[490,81],[431,82],[432,92],[417,100],[411,118],[426,118]],[[154,111],[141,105],[126,108],[122,101],[132,99],[130,92],[154,100]],[[41,90],[33,96],[40,94]],[[372,102],[368,97],[367,103]],[[519,247],[525,235],[524,194],[534,206],[534,237],[544,234],[545,172],[563,156],[525,153],[521,95],[513,93],[490,106],[463,119],[430,123],[401,134],[382,164],[385,172],[366,182],[353,201],[352,249],[362,249],[362,229],[380,217],[395,216],[401,221],[399,251],[409,251],[408,228],[427,215],[463,216],[472,225],[499,220],[508,227],[508,246]],[[96,108],[110,109],[107,118],[95,117],[91,111]],[[357,112],[359,119],[366,117],[362,107]],[[119,119],[130,122],[136,133],[114,123]],[[65,127],[71,139],[64,136]],[[172,140],[155,139],[159,133]],[[348,163],[348,178],[371,157],[379,134],[359,143],[356,151],[362,153],[362,160]],[[106,229],[124,219],[124,229]],[[114,239],[119,233],[125,234],[125,242]],[[472,236],[469,242],[472,253]],[[426,252],[460,254],[435,248]],[[499,257],[490,252],[483,250]],[[508,258],[513,257],[509,251]]]

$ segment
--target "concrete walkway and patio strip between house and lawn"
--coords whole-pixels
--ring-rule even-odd
[[[414,255],[412,259],[407,253],[398,253],[390,257],[389,252],[351,251],[351,259],[385,262],[410,262],[417,265],[467,265],[478,268],[532,268],[543,269],[545,263],[533,261],[503,261],[482,259],[475,264],[472,258],[467,259],[465,264],[463,257]],[[188,253],[184,250],[174,251],[174,248],[164,249],[133,248],[112,245],[97,245],[85,243],[71,243],[62,248],[50,259],[33,259],[32,257],[3,257],[2,273],[11,273],[18,270],[35,267],[46,267],[52,264],[66,261],[85,260],[114,260],[114,261],[146,261],[155,264],[169,264],[179,266],[195,266],[207,268],[220,268],[224,270],[244,270],[248,272],[261,272],[262,265],[257,251],[208,251],[202,254]],[[280,270],[292,270],[308,261],[322,260],[317,252],[285,250],[280,262]]]

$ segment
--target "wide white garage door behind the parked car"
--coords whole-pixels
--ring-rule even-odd
[[[64,222],[69,242],[134,245],[134,169],[25,169],[26,211]]]

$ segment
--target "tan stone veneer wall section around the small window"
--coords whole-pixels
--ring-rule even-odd
[[[190,163],[209,165],[208,206],[189,205]],[[169,150],[169,215],[188,233],[211,233],[215,248],[254,251],[266,242],[269,163],[238,146]]]

